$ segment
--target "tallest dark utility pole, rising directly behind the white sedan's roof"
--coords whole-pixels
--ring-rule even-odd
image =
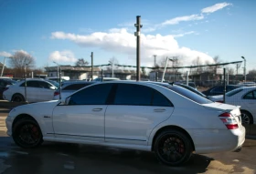
[[[141,79],[141,71],[140,71],[140,67],[141,67],[141,61],[140,61],[140,42],[141,42],[141,27],[143,27],[143,25],[141,25],[141,16],[137,15],[137,23],[134,24],[134,26],[136,27],[136,32],[134,33],[134,36],[137,36],[137,54],[136,54],[136,58],[137,58],[137,72],[136,72],[136,80],[140,81]]]

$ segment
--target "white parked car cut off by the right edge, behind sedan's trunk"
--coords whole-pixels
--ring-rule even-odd
[[[223,95],[213,96],[212,101],[223,103]],[[228,92],[225,103],[240,106],[242,124],[256,124],[256,87],[240,87]]]

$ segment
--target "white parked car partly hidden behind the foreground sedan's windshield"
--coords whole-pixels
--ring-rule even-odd
[[[61,86],[61,95],[60,96],[63,98],[69,97],[69,95],[71,95],[75,91],[79,90],[80,88],[90,86],[93,83],[95,83],[95,82],[82,81],[82,80],[73,81],[73,82],[72,81],[65,82]],[[53,99],[59,99],[59,88],[54,92]]]

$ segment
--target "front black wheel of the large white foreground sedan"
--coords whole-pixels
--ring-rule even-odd
[[[16,122],[13,128],[13,139],[21,148],[36,148],[43,142],[41,129],[31,118],[23,118]]]

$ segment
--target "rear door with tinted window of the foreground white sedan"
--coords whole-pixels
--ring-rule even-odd
[[[151,87],[118,84],[105,113],[105,141],[147,145],[152,129],[173,110],[172,103]]]

